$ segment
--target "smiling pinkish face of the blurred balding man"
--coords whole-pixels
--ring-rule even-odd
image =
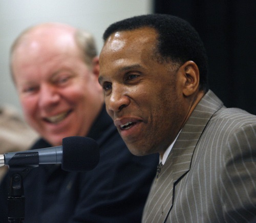
[[[12,54],[25,118],[53,146],[86,136],[103,104],[97,59],[92,68],[85,64],[73,32],[66,31],[33,31]]]

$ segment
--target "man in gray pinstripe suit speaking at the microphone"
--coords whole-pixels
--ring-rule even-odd
[[[209,90],[194,28],[142,15],[112,24],[103,38],[108,114],[133,154],[160,154],[142,221],[255,221],[256,117]]]

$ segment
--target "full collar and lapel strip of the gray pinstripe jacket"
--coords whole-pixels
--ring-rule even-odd
[[[195,147],[207,122],[222,106],[222,102],[211,91],[197,105],[152,185],[143,212],[143,222],[165,221],[173,207],[175,184],[189,171]]]

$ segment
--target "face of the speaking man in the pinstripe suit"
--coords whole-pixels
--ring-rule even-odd
[[[100,53],[108,114],[133,154],[162,154],[186,121],[185,66],[158,62],[152,28],[113,33]]]

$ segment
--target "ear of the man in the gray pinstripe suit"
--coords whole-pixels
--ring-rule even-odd
[[[183,72],[184,83],[183,83],[183,94],[184,96],[193,95],[199,89],[199,69],[194,61],[186,61],[181,66]]]

